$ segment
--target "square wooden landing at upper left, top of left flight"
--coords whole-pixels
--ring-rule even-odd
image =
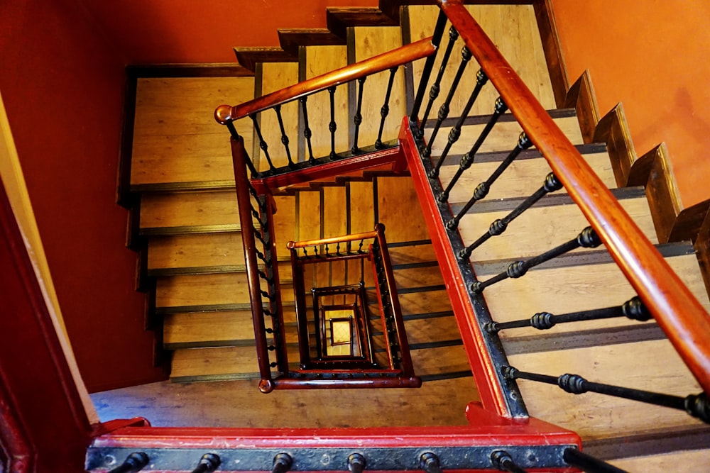
[[[214,104],[248,100],[253,84],[253,77],[138,79],[131,185],[234,182],[229,138],[214,121]],[[246,125],[240,131],[251,146]]]

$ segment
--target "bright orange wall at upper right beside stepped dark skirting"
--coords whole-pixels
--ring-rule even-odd
[[[638,155],[665,141],[684,206],[710,199],[710,2],[552,0],[571,82],[619,101]]]

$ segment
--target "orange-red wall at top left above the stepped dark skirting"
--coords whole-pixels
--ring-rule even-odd
[[[378,0],[82,0],[131,64],[234,62],[234,46],[278,46],[278,28],[325,28],[326,6]]]

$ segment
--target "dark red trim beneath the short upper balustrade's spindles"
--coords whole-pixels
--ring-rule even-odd
[[[328,162],[323,165],[305,167],[284,174],[277,174],[263,179],[251,179],[251,185],[259,194],[263,194],[265,189],[278,189],[280,187],[302,184],[303,182],[319,181],[348,174],[349,172],[361,171],[371,167],[379,167],[390,163],[403,162],[404,156],[399,147],[388,148],[386,150],[370,152],[367,154],[346,157],[342,160]]]

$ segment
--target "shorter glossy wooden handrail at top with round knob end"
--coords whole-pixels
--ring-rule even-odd
[[[271,92],[271,94],[244,102],[244,104],[235,106],[220,105],[214,111],[214,118],[218,123],[226,125],[229,121],[244,118],[245,116],[251,115],[251,113],[285,104],[288,101],[325,90],[334,85],[344,84],[351,80],[360,79],[361,77],[366,77],[376,72],[382,72],[386,69],[398,67],[408,62],[421,59],[422,57],[430,56],[434,54],[436,50],[437,48],[432,45],[432,38],[424,38],[415,41],[415,43],[410,43],[401,48],[384,52],[381,55],[371,57],[364,61],[341,67],[340,69],[327,72],[318,77],[312,77],[312,79],[299,82],[285,89]]]

